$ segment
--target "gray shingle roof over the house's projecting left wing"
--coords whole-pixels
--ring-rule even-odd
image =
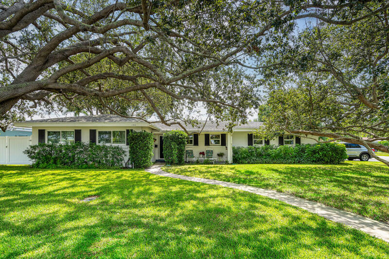
[[[42,119],[33,121],[18,121],[18,122],[144,122],[138,119],[124,118],[114,114],[99,114],[78,117],[63,117],[53,119]]]

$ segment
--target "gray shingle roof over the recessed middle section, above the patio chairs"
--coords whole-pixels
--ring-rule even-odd
[[[186,128],[187,131],[192,132],[192,131],[201,131],[203,128],[205,121],[200,121],[200,125],[185,125],[183,126]],[[166,126],[165,124],[162,123],[153,123],[157,127],[159,127],[162,131],[168,131],[168,130],[181,130],[181,127],[177,124],[174,124],[172,126]],[[229,121],[219,121],[217,124],[215,121],[207,121],[207,123],[204,126],[204,129],[202,130],[203,132],[212,132],[212,131],[227,131],[227,125],[229,124]],[[233,129],[257,129],[262,126],[262,122],[259,121],[248,121],[247,124],[242,124],[233,127]]]

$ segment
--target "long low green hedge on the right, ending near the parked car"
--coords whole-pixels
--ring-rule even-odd
[[[343,144],[232,147],[236,164],[339,164],[347,159]]]

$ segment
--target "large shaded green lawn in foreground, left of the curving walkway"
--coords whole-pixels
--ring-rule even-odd
[[[389,258],[389,244],[239,190],[136,170],[1,166],[0,258],[16,257]]]

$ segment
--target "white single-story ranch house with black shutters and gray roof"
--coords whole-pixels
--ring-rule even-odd
[[[203,122],[204,123],[204,122]],[[31,127],[31,144],[59,143],[59,142],[94,142],[104,145],[119,145],[124,149],[128,144],[126,135],[129,131],[147,131],[154,135],[154,155],[152,161],[163,161],[163,133],[170,130],[182,130],[178,125],[166,126],[162,123],[147,123],[141,120],[123,118],[112,114],[66,117],[44,119],[34,121],[20,121],[14,123],[20,127]],[[283,135],[279,138],[264,140],[255,138],[255,132],[261,122],[249,121],[245,125],[235,126],[232,132],[228,132],[226,122],[208,121],[206,125],[199,127],[185,126],[189,134],[186,149],[193,149],[195,157],[206,149],[213,150],[214,158],[223,152],[222,160],[232,161],[232,146],[247,147],[249,145],[295,145],[313,144],[316,141],[313,136],[309,138],[296,138],[292,135]],[[196,134],[201,132],[200,134]]]

